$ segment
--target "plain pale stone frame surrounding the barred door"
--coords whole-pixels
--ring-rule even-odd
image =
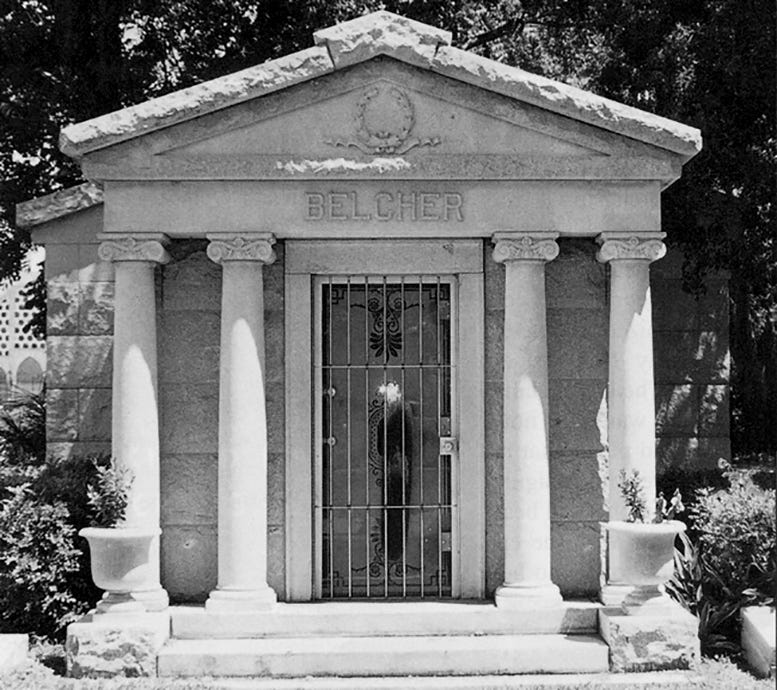
[[[458,596],[485,596],[484,293],[481,240],[287,240],[286,600],[310,601],[316,573],[313,499],[314,276],[454,275],[458,282],[455,389],[459,426]]]

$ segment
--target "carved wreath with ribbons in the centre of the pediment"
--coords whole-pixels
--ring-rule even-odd
[[[414,125],[415,111],[407,94],[396,86],[376,84],[365,89],[356,103],[355,137],[327,139],[326,143],[373,156],[401,155],[417,146],[440,143],[439,137],[411,137]]]

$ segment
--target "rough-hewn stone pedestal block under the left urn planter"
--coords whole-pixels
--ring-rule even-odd
[[[86,615],[67,627],[68,676],[154,677],[157,652],[169,636],[166,613]]]

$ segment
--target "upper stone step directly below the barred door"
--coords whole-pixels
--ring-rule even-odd
[[[549,635],[594,633],[600,606],[565,601],[553,608],[498,609],[493,602],[315,602],[278,604],[270,612],[171,609],[177,639],[373,635]]]

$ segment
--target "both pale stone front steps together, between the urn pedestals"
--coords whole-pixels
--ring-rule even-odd
[[[172,612],[166,677],[602,673],[595,604],[504,611],[490,602],[279,604],[270,613]]]

